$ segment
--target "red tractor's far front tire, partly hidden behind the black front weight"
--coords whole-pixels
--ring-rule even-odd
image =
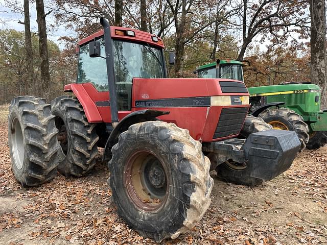
[[[272,129],[272,126],[267,124],[262,118],[247,115],[239,137],[246,139],[252,133],[269,129]],[[238,185],[255,186],[263,182],[261,179],[253,178],[248,175],[246,163],[237,163],[232,160],[227,160],[217,165],[216,172],[220,179]]]

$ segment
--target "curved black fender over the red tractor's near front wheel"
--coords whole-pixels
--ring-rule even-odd
[[[157,111],[157,110],[141,110],[134,111],[127,116],[125,116],[118,125],[111,131],[109,138],[107,140],[106,146],[104,148],[102,161],[109,161],[111,159],[111,148],[114,144],[118,142],[118,137],[121,133],[128,130],[129,126],[137,124],[138,122],[144,121],[156,121],[159,120],[157,116],[167,115],[169,111]]]

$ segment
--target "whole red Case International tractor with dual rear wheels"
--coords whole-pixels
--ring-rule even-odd
[[[82,176],[102,147],[118,214],[161,241],[204,215],[211,169],[227,181],[256,185],[290,167],[300,145],[295,132],[235,138],[249,109],[243,82],[168,79],[160,38],[109,27],[103,18],[101,24],[103,31],[79,42],[77,83],[65,86],[74,96],[51,105],[32,96],[11,102],[9,146],[23,186],[51,180],[57,170]]]

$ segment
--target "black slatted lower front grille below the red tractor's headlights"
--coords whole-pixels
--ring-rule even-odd
[[[243,126],[248,108],[223,108],[213,139],[238,134]]]

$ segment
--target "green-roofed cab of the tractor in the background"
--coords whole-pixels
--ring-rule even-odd
[[[199,66],[195,70],[198,78],[224,78],[244,82],[243,64],[237,60],[217,60],[216,62]]]

